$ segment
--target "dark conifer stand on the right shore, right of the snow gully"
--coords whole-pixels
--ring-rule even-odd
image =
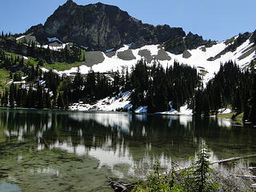
[[[195,114],[217,114],[218,109],[231,106],[237,114],[242,113],[250,98],[252,74],[242,71],[234,62],[221,65],[218,74],[207,83],[205,89],[198,89],[194,97]]]

